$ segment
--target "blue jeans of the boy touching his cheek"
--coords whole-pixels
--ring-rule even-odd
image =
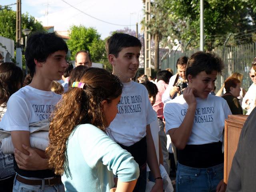
[[[178,162],[176,192],[216,192],[223,177],[223,163],[209,168],[192,168]]]

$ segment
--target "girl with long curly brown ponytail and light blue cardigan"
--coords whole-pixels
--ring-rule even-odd
[[[138,164],[106,134],[118,112],[123,85],[104,69],[89,68],[63,94],[52,115],[49,165],[62,175],[66,192],[132,192]]]

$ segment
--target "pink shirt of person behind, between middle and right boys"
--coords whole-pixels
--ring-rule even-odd
[[[162,94],[168,87],[168,84],[166,84],[163,80],[159,80],[156,83],[156,86],[158,88],[158,94],[156,95],[156,102],[153,105],[153,109],[156,111],[157,117],[163,118],[164,116],[164,104],[162,102]]]

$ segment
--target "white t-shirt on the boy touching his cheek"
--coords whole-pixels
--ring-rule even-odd
[[[209,94],[206,99],[196,98],[196,102],[192,132],[187,144],[201,145],[222,142],[225,119],[232,114],[226,100]],[[183,95],[165,104],[166,133],[182,124],[187,109],[188,104]]]

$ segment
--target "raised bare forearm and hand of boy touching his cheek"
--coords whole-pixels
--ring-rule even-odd
[[[193,88],[186,88],[183,92],[183,97],[188,104],[188,110],[182,124],[178,128],[169,130],[169,135],[172,142],[178,149],[184,149],[191,135],[194,116],[196,111],[196,98],[193,94]]]

